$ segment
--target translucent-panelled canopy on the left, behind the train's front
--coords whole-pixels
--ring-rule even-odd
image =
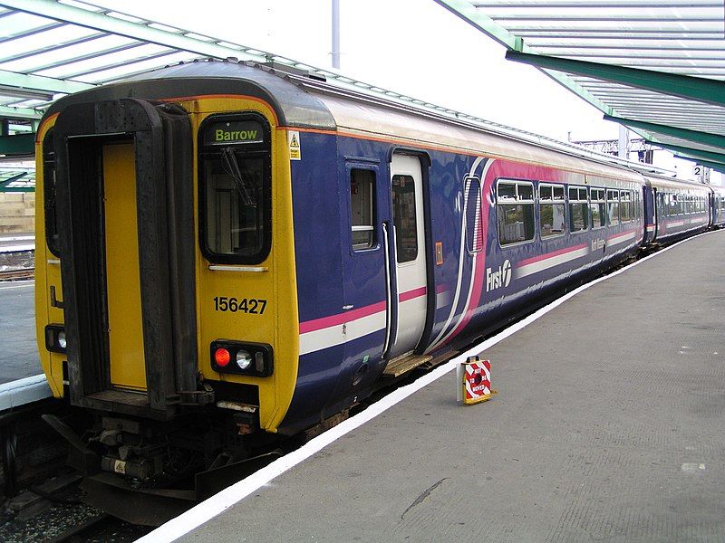
[[[319,71],[86,2],[0,0],[0,157],[32,157],[38,120],[65,94],[176,62],[229,57]]]

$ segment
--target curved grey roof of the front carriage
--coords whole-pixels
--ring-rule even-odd
[[[639,182],[642,177],[634,172],[652,169],[452,110],[426,109],[423,106],[428,104],[422,101],[405,103],[354,84],[331,83],[274,62],[183,62],[63,97],[46,116],[88,100],[180,100],[210,94],[245,94],[265,100],[274,108],[280,125],[290,128],[343,130],[360,137],[384,134],[429,148],[445,147]]]

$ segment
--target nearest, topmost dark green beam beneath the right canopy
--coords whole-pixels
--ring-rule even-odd
[[[653,90],[688,100],[698,100],[719,106],[725,106],[725,81],[716,81],[691,75],[665,73],[664,71],[639,70],[625,66],[614,66],[599,62],[576,61],[542,54],[507,51],[509,61],[531,64],[537,68],[575,73],[598,80],[611,81]]]

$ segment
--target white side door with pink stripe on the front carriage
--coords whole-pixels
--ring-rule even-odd
[[[425,329],[428,300],[427,255],[420,159],[394,154],[391,161],[391,311],[394,330],[389,357],[400,357],[418,346]],[[392,271],[392,270],[391,270]]]

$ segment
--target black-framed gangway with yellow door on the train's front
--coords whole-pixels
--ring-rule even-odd
[[[71,404],[169,417],[197,386],[189,116],[83,102],[53,130]]]

